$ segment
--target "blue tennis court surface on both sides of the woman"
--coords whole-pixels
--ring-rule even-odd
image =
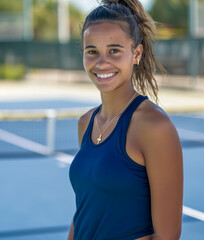
[[[0,109],[95,105],[58,99],[0,102]],[[179,133],[184,157],[181,240],[204,240],[204,113],[169,116]],[[75,212],[68,172],[78,150],[77,119],[56,121],[55,151],[51,155],[43,153],[46,124],[44,119],[0,120],[0,239],[67,239]]]

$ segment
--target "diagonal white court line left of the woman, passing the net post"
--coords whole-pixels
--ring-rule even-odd
[[[26,138],[20,137],[16,134],[7,132],[2,129],[0,129],[0,140],[2,140],[4,142],[8,142],[8,143],[13,144],[18,147],[21,147],[23,149],[42,154],[44,156],[49,155],[48,147],[46,147],[40,143],[36,143],[31,140],[28,140]],[[71,164],[71,162],[74,158],[72,155],[69,155],[66,153],[61,153],[61,152],[55,153],[54,157],[56,158],[57,161],[60,161],[65,164]],[[63,166],[65,166],[65,165],[63,165]],[[61,164],[61,167],[62,167],[62,164]]]

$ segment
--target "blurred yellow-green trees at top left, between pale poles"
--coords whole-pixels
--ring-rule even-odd
[[[58,0],[33,0],[34,40],[57,41]],[[0,12],[22,12],[23,0],[0,0]],[[83,13],[69,4],[71,39],[80,38],[80,23]]]

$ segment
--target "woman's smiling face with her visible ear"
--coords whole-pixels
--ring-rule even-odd
[[[134,64],[141,58],[142,45],[132,49],[133,42],[119,24],[101,22],[84,31],[84,67],[102,92],[131,85]]]

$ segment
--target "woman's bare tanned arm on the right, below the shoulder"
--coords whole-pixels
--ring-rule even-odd
[[[150,183],[155,234],[161,240],[177,240],[181,232],[183,202],[180,140],[174,125],[162,113],[156,113],[144,131],[143,154]]]

